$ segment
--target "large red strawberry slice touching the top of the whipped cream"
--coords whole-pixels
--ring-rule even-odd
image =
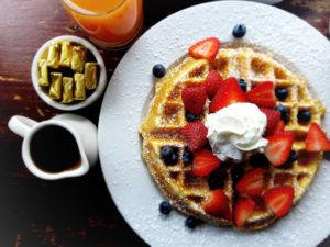
[[[217,92],[210,103],[210,112],[217,112],[233,103],[246,102],[246,97],[238,80],[230,77],[224,81],[224,86]]]

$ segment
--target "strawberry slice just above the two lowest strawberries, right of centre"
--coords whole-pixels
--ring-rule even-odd
[[[255,168],[245,173],[238,182],[235,189],[242,194],[260,195],[264,190],[265,169]]]

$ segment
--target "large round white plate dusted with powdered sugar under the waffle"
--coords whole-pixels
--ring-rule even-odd
[[[248,26],[245,42],[286,57],[308,78],[330,109],[330,43],[302,20],[253,2],[210,2],[177,12],[150,29],[125,54],[107,89],[99,120],[102,171],[119,211],[151,246],[300,246],[312,247],[330,233],[330,164],[323,161],[306,197],[290,214],[257,233],[204,225],[189,231],[185,216],[160,215],[164,200],[140,155],[139,124],[153,91],[152,68],[166,67],[196,41],[218,36],[232,41],[238,23]],[[324,128],[330,133],[329,115]],[[110,212],[111,213],[111,212]]]

